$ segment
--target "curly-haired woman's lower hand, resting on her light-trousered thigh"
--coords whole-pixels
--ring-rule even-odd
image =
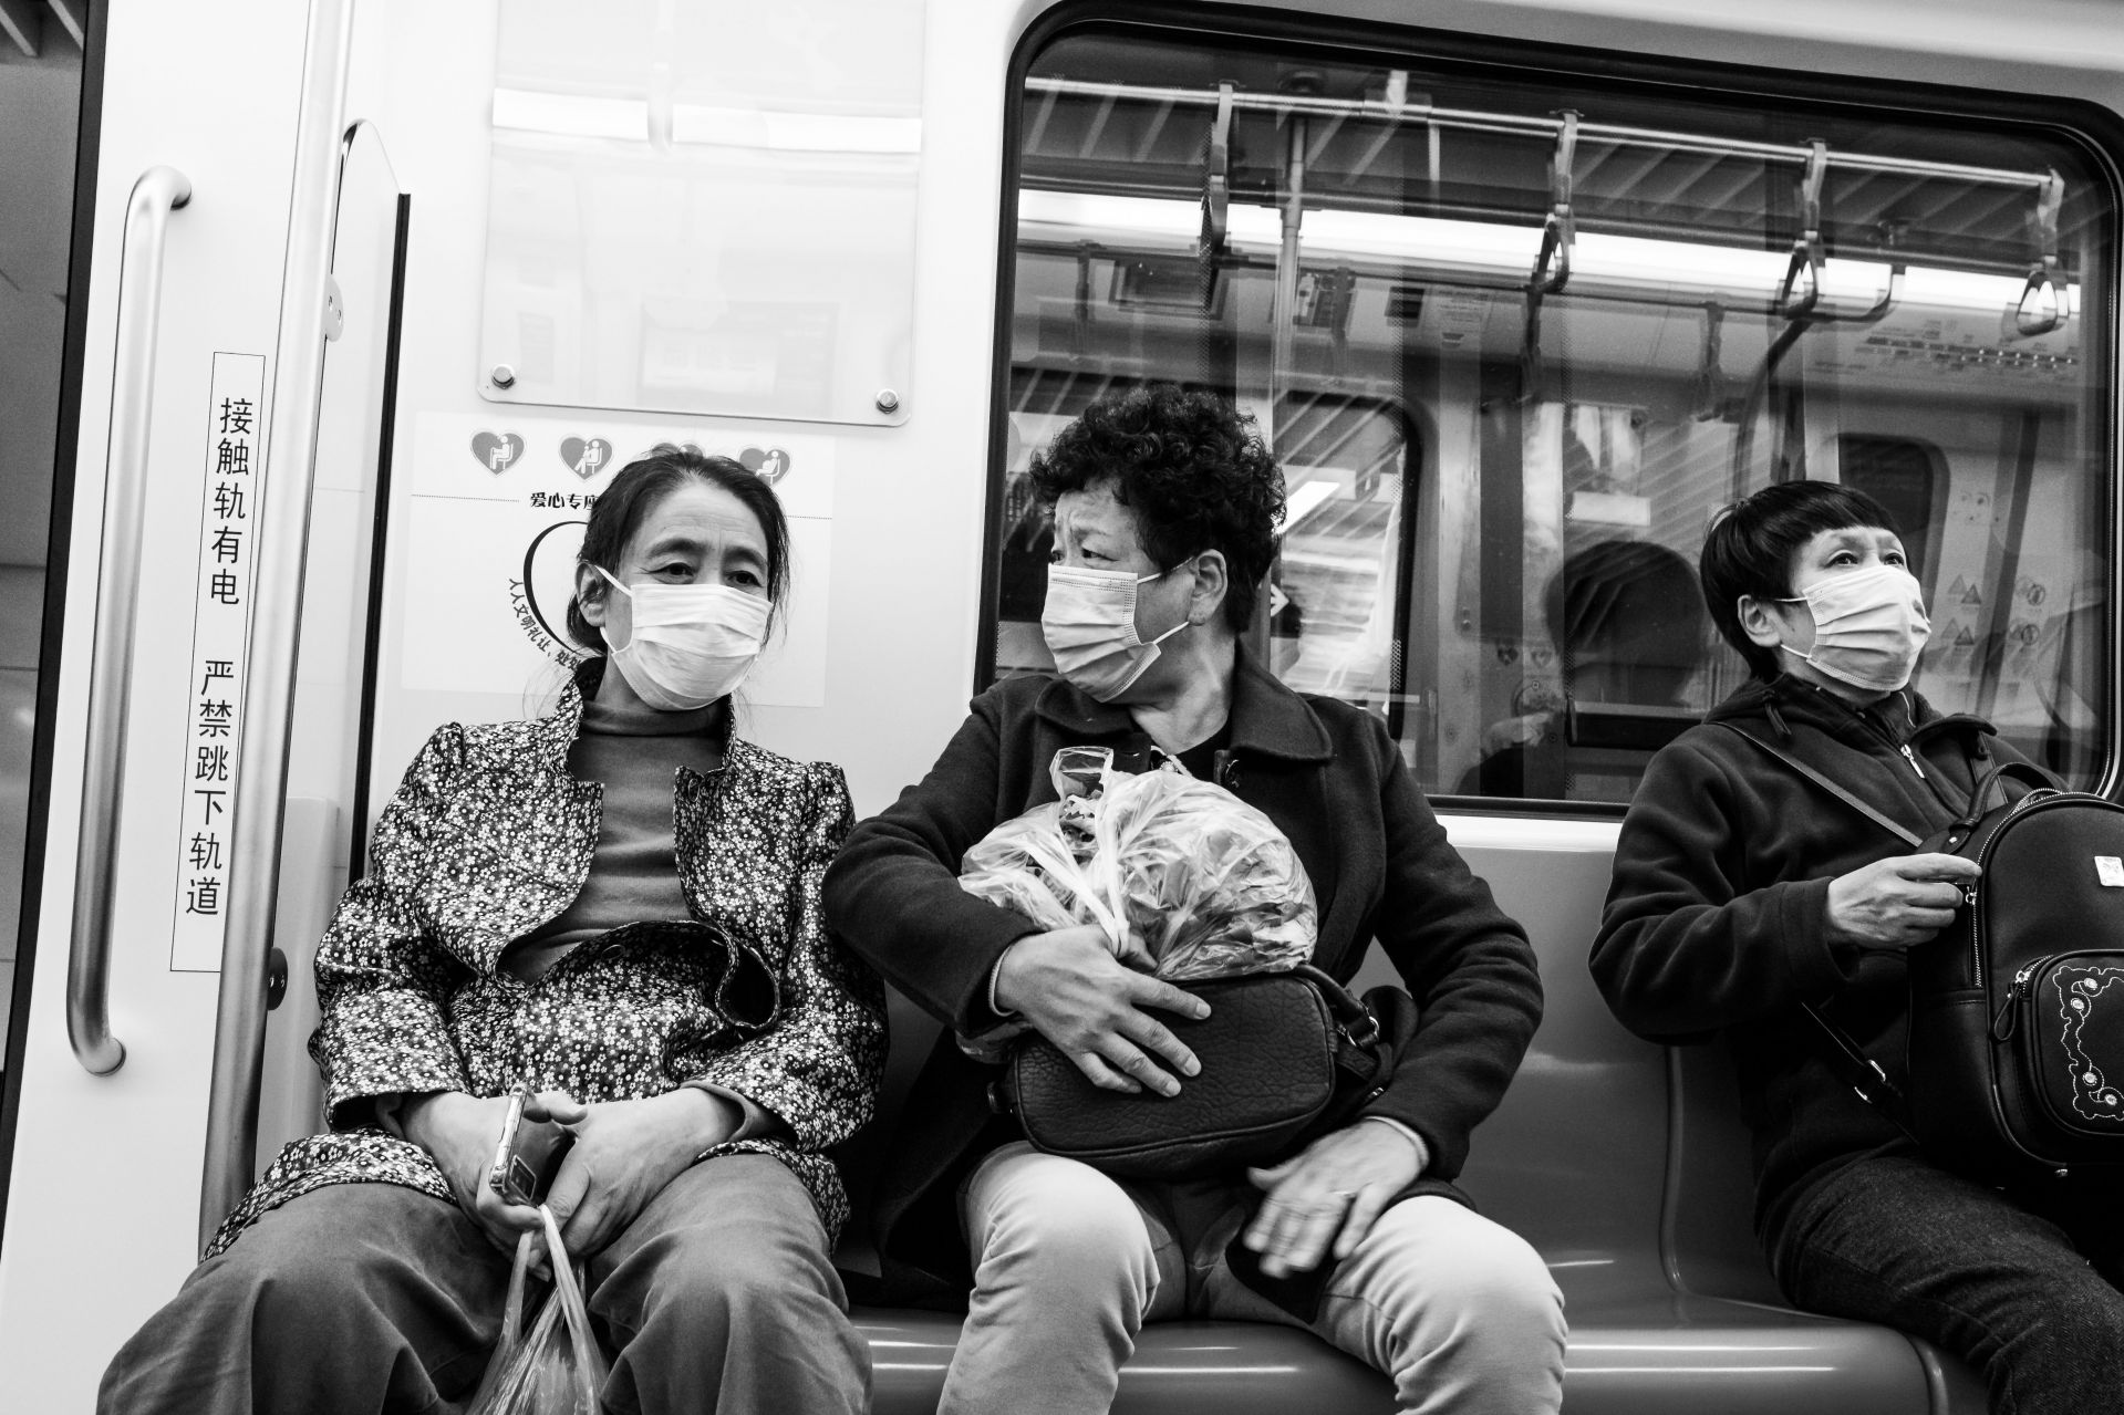
[[[1330,1239],[1340,1262],[1425,1164],[1421,1141],[1393,1126],[1359,1120],[1332,1130],[1274,1169],[1247,1171],[1268,1198],[1243,1243],[1262,1254],[1268,1277],[1311,1271],[1330,1251]]]

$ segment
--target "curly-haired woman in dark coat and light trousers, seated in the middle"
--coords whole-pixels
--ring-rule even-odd
[[[1043,629],[1060,676],[975,699],[826,877],[850,948],[958,1035],[918,1079],[879,1181],[888,1279],[937,1298],[971,1288],[943,1409],[1104,1411],[1141,1324],[1183,1315],[1300,1322],[1389,1373],[1406,1411],[1555,1409],[1555,1283],[1451,1188],[1534,1035],[1534,954],[1385,724],[1291,693],[1240,648],[1281,472],[1228,406],[1147,389],[1085,410],[1032,478],[1056,512]],[[1385,945],[1421,1024],[1355,1122],[1264,1171],[1124,1186],[990,1118],[996,1073],[958,1039],[1005,1022],[1113,1090],[1172,1094],[1196,1075],[1160,1022],[1198,1016],[1196,999],[1126,967],[1096,926],[1043,933],[958,888],[969,846],[1056,799],[1064,746],[1132,769],[1172,756],[1266,812],[1311,875],[1315,962],[1334,977]]]

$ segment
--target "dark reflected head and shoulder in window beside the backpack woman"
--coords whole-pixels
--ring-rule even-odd
[[[1601,540],[1574,550],[1548,580],[1542,614],[1574,703],[1680,708],[1703,659],[1697,576],[1680,555],[1650,542]],[[1487,756],[1461,778],[1461,795],[1570,795],[1559,714],[1497,722],[1485,748]]]

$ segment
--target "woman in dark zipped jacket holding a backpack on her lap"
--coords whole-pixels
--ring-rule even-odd
[[[1593,941],[1608,1005],[1655,1041],[1725,1037],[1757,1234],[1795,1305],[1954,1351],[1999,1415],[2124,1409],[2116,1205],[2048,1173],[2003,1188],[1958,1173],[1854,1090],[1858,1060],[1831,1039],[1903,1079],[1907,952],[1977,875],[1905,835],[1954,822],[2020,754],[1909,688],[1922,589],[1871,497],[1765,487],[1712,525],[1699,569],[1752,678],[1652,758],[1631,801]]]

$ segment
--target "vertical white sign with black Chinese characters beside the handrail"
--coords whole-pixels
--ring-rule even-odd
[[[221,969],[223,899],[229,880],[229,807],[244,716],[244,650],[257,567],[255,521],[261,355],[215,355],[200,478],[200,540],[191,614],[191,682],[185,701],[183,829],[176,839],[176,928],[170,967]]]

